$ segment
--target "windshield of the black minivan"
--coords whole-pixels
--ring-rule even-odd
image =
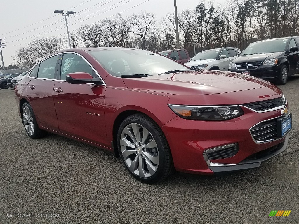
[[[250,45],[248,45],[248,47],[245,48],[245,50],[243,50],[241,56],[250,54],[282,52],[286,48],[287,42],[288,39],[272,39],[262,42],[251,43]]]

